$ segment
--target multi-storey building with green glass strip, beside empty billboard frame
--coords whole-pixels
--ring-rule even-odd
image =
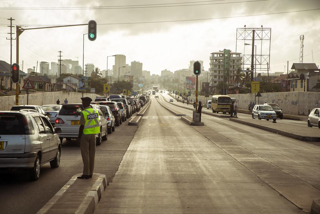
[[[209,75],[212,86],[217,86],[225,77],[226,86],[237,84],[234,82],[234,72],[242,68],[241,53],[223,51],[213,52],[210,56]]]

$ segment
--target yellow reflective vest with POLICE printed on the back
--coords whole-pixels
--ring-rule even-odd
[[[93,108],[87,108],[82,111],[84,116],[84,134],[98,134],[100,133],[99,127],[99,114],[98,111]]]

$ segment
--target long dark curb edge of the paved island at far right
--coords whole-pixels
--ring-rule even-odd
[[[270,128],[270,127],[263,126],[263,125],[260,125],[260,124],[255,124],[255,123],[250,123],[248,121],[239,120],[237,118],[232,118],[231,117],[231,118],[229,118],[229,120],[237,122],[237,123],[245,124],[245,125],[250,125],[252,127],[259,128],[259,129],[262,129],[262,130],[265,130],[265,131],[268,131],[268,132],[273,132],[273,133],[276,133],[276,134],[280,134],[280,135],[283,135],[283,136],[286,136],[286,137],[290,137],[290,138],[293,138],[293,139],[296,139],[296,140],[299,140],[299,141],[320,141],[319,137],[302,136],[302,135],[298,135],[298,134],[294,134],[294,133],[285,132],[285,131],[281,131],[281,130],[278,130],[278,129]]]

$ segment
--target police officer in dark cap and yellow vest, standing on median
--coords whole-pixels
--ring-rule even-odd
[[[82,105],[84,110],[81,112],[78,144],[80,144],[81,156],[83,160],[83,174],[78,176],[80,179],[92,178],[94,167],[94,156],[96,152],[95,134],[100,133],[98,111],[90,106],[92,99],[83,97]]]

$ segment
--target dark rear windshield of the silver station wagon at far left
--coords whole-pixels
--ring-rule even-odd
[[[34,127],[28,115],[1,114],[0,134],[21,135],[34,134]]]

